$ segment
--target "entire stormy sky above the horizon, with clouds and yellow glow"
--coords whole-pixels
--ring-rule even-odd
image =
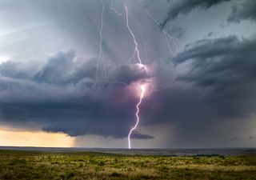
[[[254,0],[0,0],[0,146],[127,148],[145,86],[133,148],[256,147],[255,30]]]

